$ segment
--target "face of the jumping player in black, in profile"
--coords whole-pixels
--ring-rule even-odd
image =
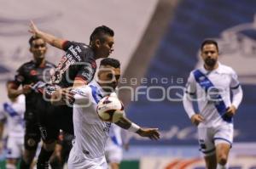
[[[101,58],[108,58],[109,54],[113,52],[113,37],[105,35],[104,40],[99,42],[97,52]]]

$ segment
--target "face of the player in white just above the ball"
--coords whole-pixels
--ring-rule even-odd
[[[119,84],[120,68],[102,66],[98,73],[98,82],[107,92],[113,92]]]

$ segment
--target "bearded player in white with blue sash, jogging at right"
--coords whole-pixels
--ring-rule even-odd
[[[241,103],[242,90],[236,72],[218,62],[217,42],[202,42],[201,58],[204,65],[190,72],[183,106],[198,127],[199,144],[207,168],[225,169],[233,142],[233,115]],[[193,109],[193,99],[198,103],[198,114]]]

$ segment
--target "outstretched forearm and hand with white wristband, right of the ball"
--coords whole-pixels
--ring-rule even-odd
[[[119,127],[124,128],[130,132],[136,132],[138,135],[150,139],[157,140],[160,138],[160,132],[158,132],[158,128],[142,128],[137,126],[137,124],[131,122],[125,116],[121,117],[119,121],[115,122]]]

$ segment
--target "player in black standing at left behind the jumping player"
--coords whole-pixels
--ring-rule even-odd
[[[20,164],[21,169],[28,169],[31,166],[40,141],[36,115],[38,109],[34,105],[35,100],[41,96],[32,91],[32,84],[38,81],[49,81],[50,72],[55,69],[55,65],[45,59],[47,47],[42,38],[31,37],[29,44],[33,59],[20,66],[16,72],[15,80],[8,85],[9,98],[16,98],[20,94],[25,94],[26,96],[25,151]],[[22,86],[21,89],[19,89],[20,85]]]

